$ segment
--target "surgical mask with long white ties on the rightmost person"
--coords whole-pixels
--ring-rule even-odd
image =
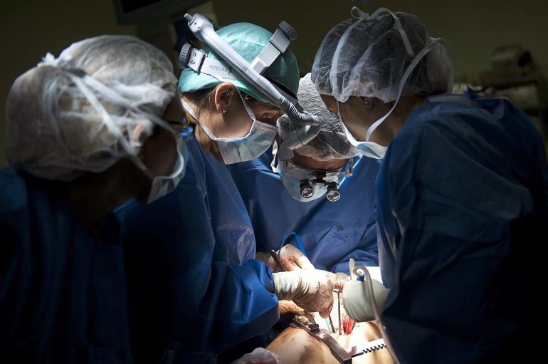
[[[399,27],[401,28],[401,25],[399,25]],[[404,43],[406,44],[406,48],[407,48],[408,53],[411,52],[411,46],[409,46],[409,39],[407,38],[407,35],[406,35],[405,31],[403,30],[403,28],[400,29],[400,33],[401,33],[401,37],[404,40]],[[394,105],[392,105],[392,108],[388,111],[388,113],[386,113],[386,115],[384,115],[379,120],[376,120],[367,129],[364,142],[359,142],[358,140],[356,140],[354,138],[354,135],[352,135],[352,133],[348,130],[347,126],[344,124],[344,120],[342,119],[342,115],[341,115],[340,110],[339,110],[339,101],[337,100],[337,115],[339,116],[339,118],[342,121],[342,128],[344,130],[344,134],[347,136],[348,141],[350,142],[350,144],[352,144],[358,152],[362,153],[362,155],[364,155],[366,157],[375,158],[375,159],[384,158],[384,155],[386,155],[386,150],[388,149],[388,147],[385,147],[384,145],[380,145],[379,143],[376,143],[376,142],[372,142],[372,141],[369,140],[369,138],[371,137],[374,130],[376,128],[378,128],[379,125],[381,125],[381,123],[383,123],[384,120],[386,120],[386,118],[388,118],[390,116],[392,111],[394,111],[394,109],[396,108],[396,105],[398,105],[398,101],[401,98],[401,93],[404,90],[404,86],[405,86],[405,83],[407,81],[407,78],[409,78],[409,75],[411,75],[411,72],[417,66],[418,62],[421,61],[421,59],[424,56],[426,56],[426,53],[431,51],[432,48],[434,46],[436,46],[436,44],[439,41],[440,41],[439,38],[431,38],[431,42],[428,43],[420,52],[418,52],[416,54],[415,58],[413,58],[413,61],[411,61],[411,63],[407,67],[406,71],[404,72],[404,76],[402,76],[402,78],[400,80],[399,88],[398,88],[398,95],[396,96],[396,100],[394,102]],[[411,55],[412,55],[412,53],[411,53]]]

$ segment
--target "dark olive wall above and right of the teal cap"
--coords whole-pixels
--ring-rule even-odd
[[[446,38],[455,76],[490,68],[496,46],[520,43],[548,71],[548,2],[537,0],[214,0],[221,24],[251,21],[272,30],[285,20],[298,33],[290,47],[302,73],[310,71],[323,36],[350,17],[352,6],[372,13],[379,7],[415,14],[431,36]]]

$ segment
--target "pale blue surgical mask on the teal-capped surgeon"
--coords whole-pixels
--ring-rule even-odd
[[[194,110],[190,107],[184,99],[181,98],[181,103],[184,110],[188,112],[195,120],[198,120]],[[228,138],[228,137],[216,137],[209,128],[203,123],[199,123],[200,127],[206,132],[206,134],[217,142],[218,150],[221,153],[223,162],[226,165],[231,165],[238,162],[247,162],[248,160],[254,160],[262,155],[274,141],[274,137],[278,132],[278,128],[274,125],[268,125],[261,123],[255,118],[255,114],[249,108],[247,103],[242,99],[243,106],[253,120],[251,129],[244,137]]]

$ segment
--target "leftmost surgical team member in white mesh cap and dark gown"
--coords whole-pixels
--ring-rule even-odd
[[[17,78],[0,171],[4,363],[133,363],[112,209],[173,189],[184,150],[169,59],[132,36],[73,43]]]

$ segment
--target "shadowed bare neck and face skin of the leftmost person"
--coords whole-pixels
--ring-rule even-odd
[[[175,97],[167,106],[164,120],[177,123],[181,115],[181,103]],[[154,177],[170,175],[177,158],[174,133],[155,128],[144,140],[140,157]],[[134,197],[146,199],[152,180],[130,158],[123,158],[104,172],[86,173],[65,186],[76,214],[83,225],[93,231],[101,217],[123,202]]]

